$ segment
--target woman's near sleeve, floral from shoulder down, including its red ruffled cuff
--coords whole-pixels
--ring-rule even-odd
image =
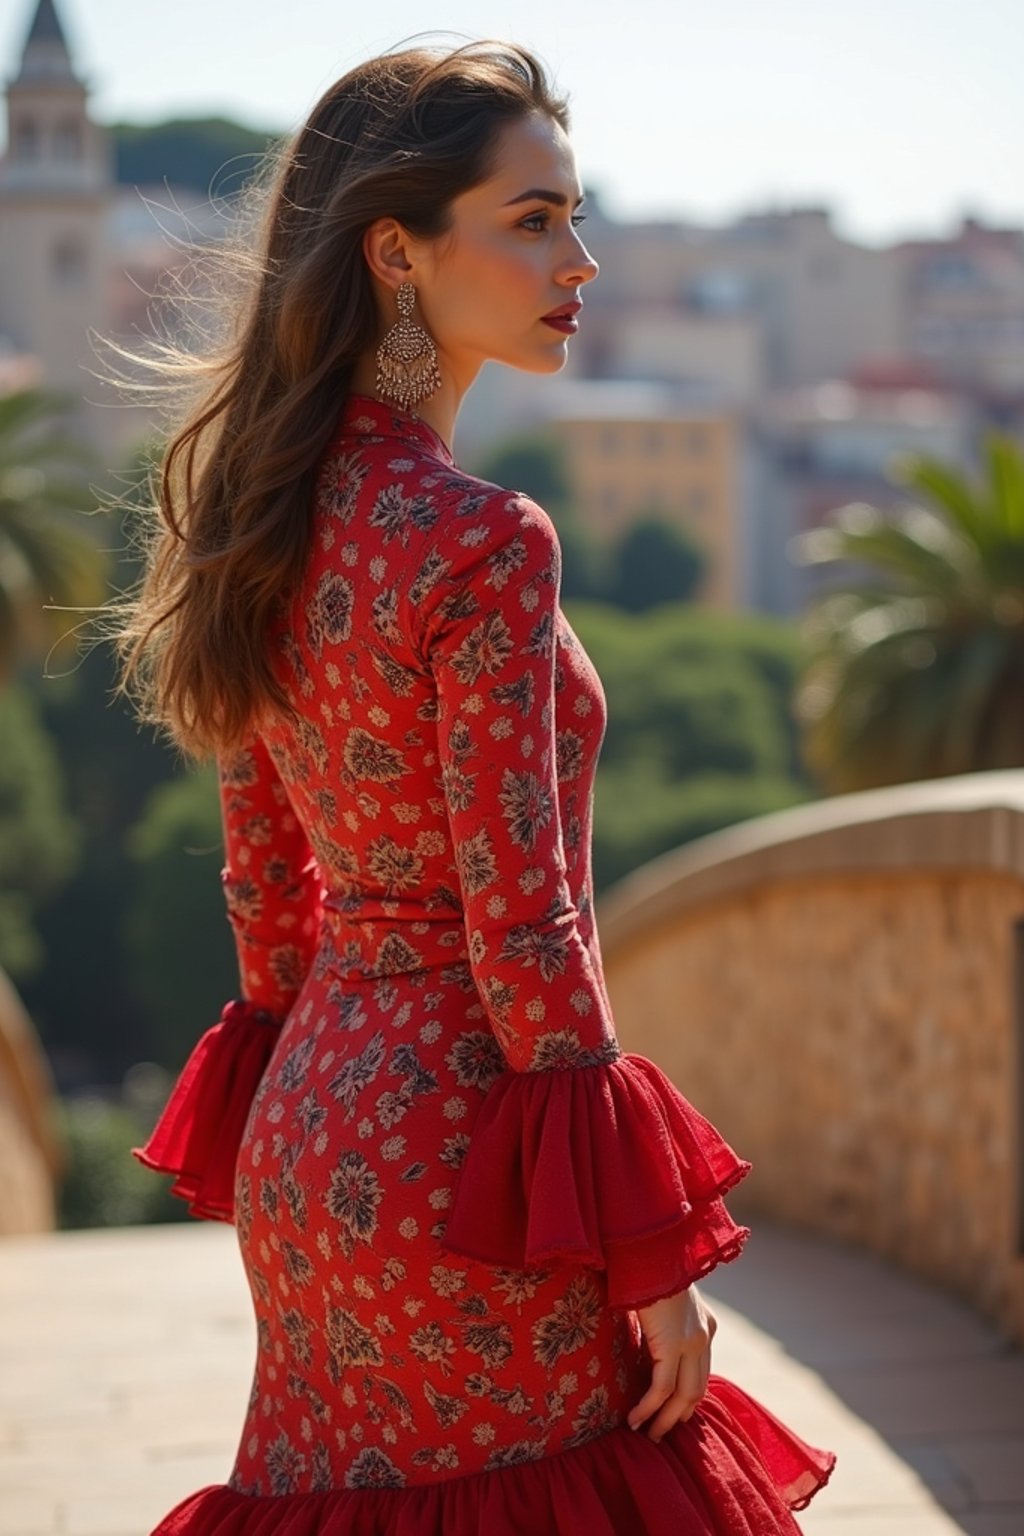
[[[559,579],[548,515],[496,493],[448,518],[418,585],[470,963],[507,1063],[442,1246],[513,1267],[588,1264],[609,1306],[636,1307],[738,1255],[749,1229],[720,1197],[751,1163],[616,1038],[567,879],[562,783],[588,793],[600,742],[559,723]]]

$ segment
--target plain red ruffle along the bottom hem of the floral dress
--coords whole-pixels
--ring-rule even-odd
[[[178,1504],[152,1536],[800,1536],[835,1453],[808,1445],[714,1373],[694,1415],[656,1444],[617,1427],[570,1450],[413,1487],[247,1495]]]

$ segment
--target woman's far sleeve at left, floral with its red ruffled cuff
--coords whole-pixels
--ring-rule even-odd
[[[218,762],[224,865],[241,997],[195,1044],[134,1155],[173,1174],[195,1217],[230,1221],[238,1147],[281,1025],[312,963],[321,872],[261,737]]]

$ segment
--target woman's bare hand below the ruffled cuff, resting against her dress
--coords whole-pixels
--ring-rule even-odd
[[[711,1339],[718,1319],[695,1286],[649,1307],[637,1307],[637,1318],[654,1370],[651,1385],[629,1413],[628,1422],[636,1430],[657,1412],[648,1435],[652,1441],[660,1441],[672,1424],[691,1416],[708,1389]]]

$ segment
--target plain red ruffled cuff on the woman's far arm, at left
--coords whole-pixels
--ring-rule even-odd
[[[132,1147],[146,1167],[175,1175],[170,1192],[189,1201],[193,1217],[233,1220],[238,1147],[279,1025],[246,998],[226,1003],[181,1069],[149,1141]]]

